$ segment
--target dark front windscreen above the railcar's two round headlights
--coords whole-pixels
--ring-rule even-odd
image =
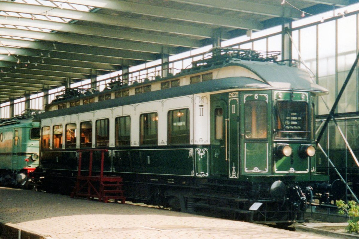
[[[308,106],[303,101],[277,101],[275,110],[276,138],[307,138]]]

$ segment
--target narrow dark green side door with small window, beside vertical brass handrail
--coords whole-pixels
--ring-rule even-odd
[[[211,95],[211,175],[227,176],[226,124],[227,94]],[[227,97],[228,98],[228,97]]]

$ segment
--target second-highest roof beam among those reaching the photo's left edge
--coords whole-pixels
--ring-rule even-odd
[[[116,30],[100,27],[89,27],[80,24],[72,23],[60,23],[57,21],[49,20],[39,20],[30,18],[22,18],[21,21],[18,21],[17,17],[8,16],[5,18],[0,18],[0,24],[14,25],[14,26],[23,26],[23,27],[36,27],[43,29],[51,29],[61,32],[85,34],[85,35],[96,35],[100,37],[109,37],[117,38],[124,40],[135,40],[140,42],[149,42],[149,43],[158,43],[171,46],[181,46],[181,47],[201,47],[202,44],[199,40],[181,38],[181,37],[169,37],[164,35],[156,34],[146,34],[139,32],[129,32],[125,30]]]

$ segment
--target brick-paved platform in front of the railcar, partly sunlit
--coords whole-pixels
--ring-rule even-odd
[[[241,221],[1,187],[0,220],[49,239],[328,239]]]

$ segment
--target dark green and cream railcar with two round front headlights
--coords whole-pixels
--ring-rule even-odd
[[[269,58],[231,49],[175,76],[52,102],[37,117],[43,185],[73,185],[78,152],[107,149],[104,174],[123,178],[130,201],[303,220],[313,198],[330,195],[314,148],[316,97],[328,91]]]

